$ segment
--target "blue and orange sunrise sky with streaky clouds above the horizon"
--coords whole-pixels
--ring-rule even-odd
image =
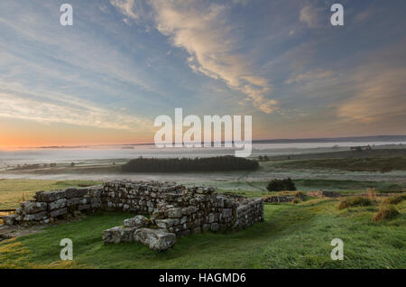
[[[152,143],[154,119],[177,107],[252,116],[254,139],[406,134],[405,8],[2,0],[0,148]]]

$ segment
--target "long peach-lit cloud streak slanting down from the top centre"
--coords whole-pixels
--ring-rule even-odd
[[[116,5],[126,17],[137,21],[140,16],[123,7],[134,7],[133,0]],[[219,79],[229,88],[245,94],[253,105],[270,114],[278,108],[275,100],[268,99],[272,85],[249,69],[248,62],[235,50],[238,42],[232,28],[226,24],[226,5],[204,5],[197,1],[148,2],[152,8],[152,22],[156,29],[168,36],[171,44],[189,53],[188,65],[195,72],[211,79]],[[241,1],[237,1],[241,4]],[[115,1],[111,1],[115,5]],[[203,4],[203,5],[199,5]]]

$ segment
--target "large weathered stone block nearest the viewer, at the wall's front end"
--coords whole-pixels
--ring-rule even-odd
[[[161,229],[141,228],[135,230],[134,240],[152,250],[164,251],[176,243],[176,236]]]

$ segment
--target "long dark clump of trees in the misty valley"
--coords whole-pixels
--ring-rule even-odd
[[[143,158],[131,160],[122,166],[125,172],[183,172],[183,171],[254,171],[259,163],[254,160],[235,156],[217,156],[209,158],[155,159]]]

